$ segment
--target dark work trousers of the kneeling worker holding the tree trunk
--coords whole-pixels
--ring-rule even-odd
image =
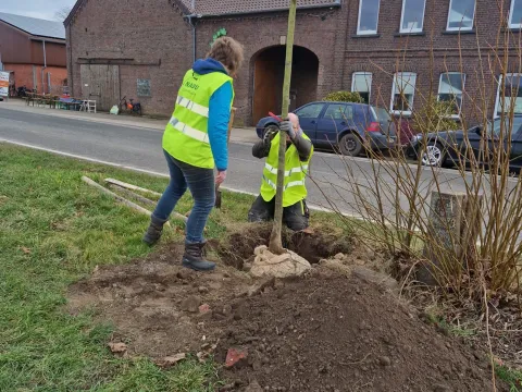
[[[249,222],[266,222],[274,219],[275,197],[264,201],[261,195],[253,201],[248,212]],[[310,212],[306,200],[283,208],[283,223],[293,231],[301,231],[308,228]]]

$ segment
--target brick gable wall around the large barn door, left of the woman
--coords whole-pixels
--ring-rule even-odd
[[[137,78],[149,78],[151,97],[139,97],[144,112],[172,112],[191,62],[191,30],[166,0],[89,0],[66,35],[73,96],[82,95],[78,59],[134,59],[120,65],[121,97],[137,99]]]

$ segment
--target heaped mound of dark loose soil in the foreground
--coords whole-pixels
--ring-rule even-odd
[[[355,278],[323,271],[244,306],[217,351],[223,363],[229,347],[248,355],[225,370],[235,388],[256,380],[270,391],[493,390],[485,355]]]

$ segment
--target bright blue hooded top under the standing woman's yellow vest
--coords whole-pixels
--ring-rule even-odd
[[[194,72],[204,75],[212,72],[222,72],[226,74],[223,65],[213,59],[198,60],[194,63]],[[232,83],[225,83],[217,88],[209,103],[209,140],[214,163],[217,170],[223,171],[228,168],[228,122],[231,120],[231,107],[233,99]]]

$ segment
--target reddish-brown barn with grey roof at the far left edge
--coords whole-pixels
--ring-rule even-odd
[[[17,87],[60,94],[67,77],[65,28],[60,22],[0,12],[0,64]]]

